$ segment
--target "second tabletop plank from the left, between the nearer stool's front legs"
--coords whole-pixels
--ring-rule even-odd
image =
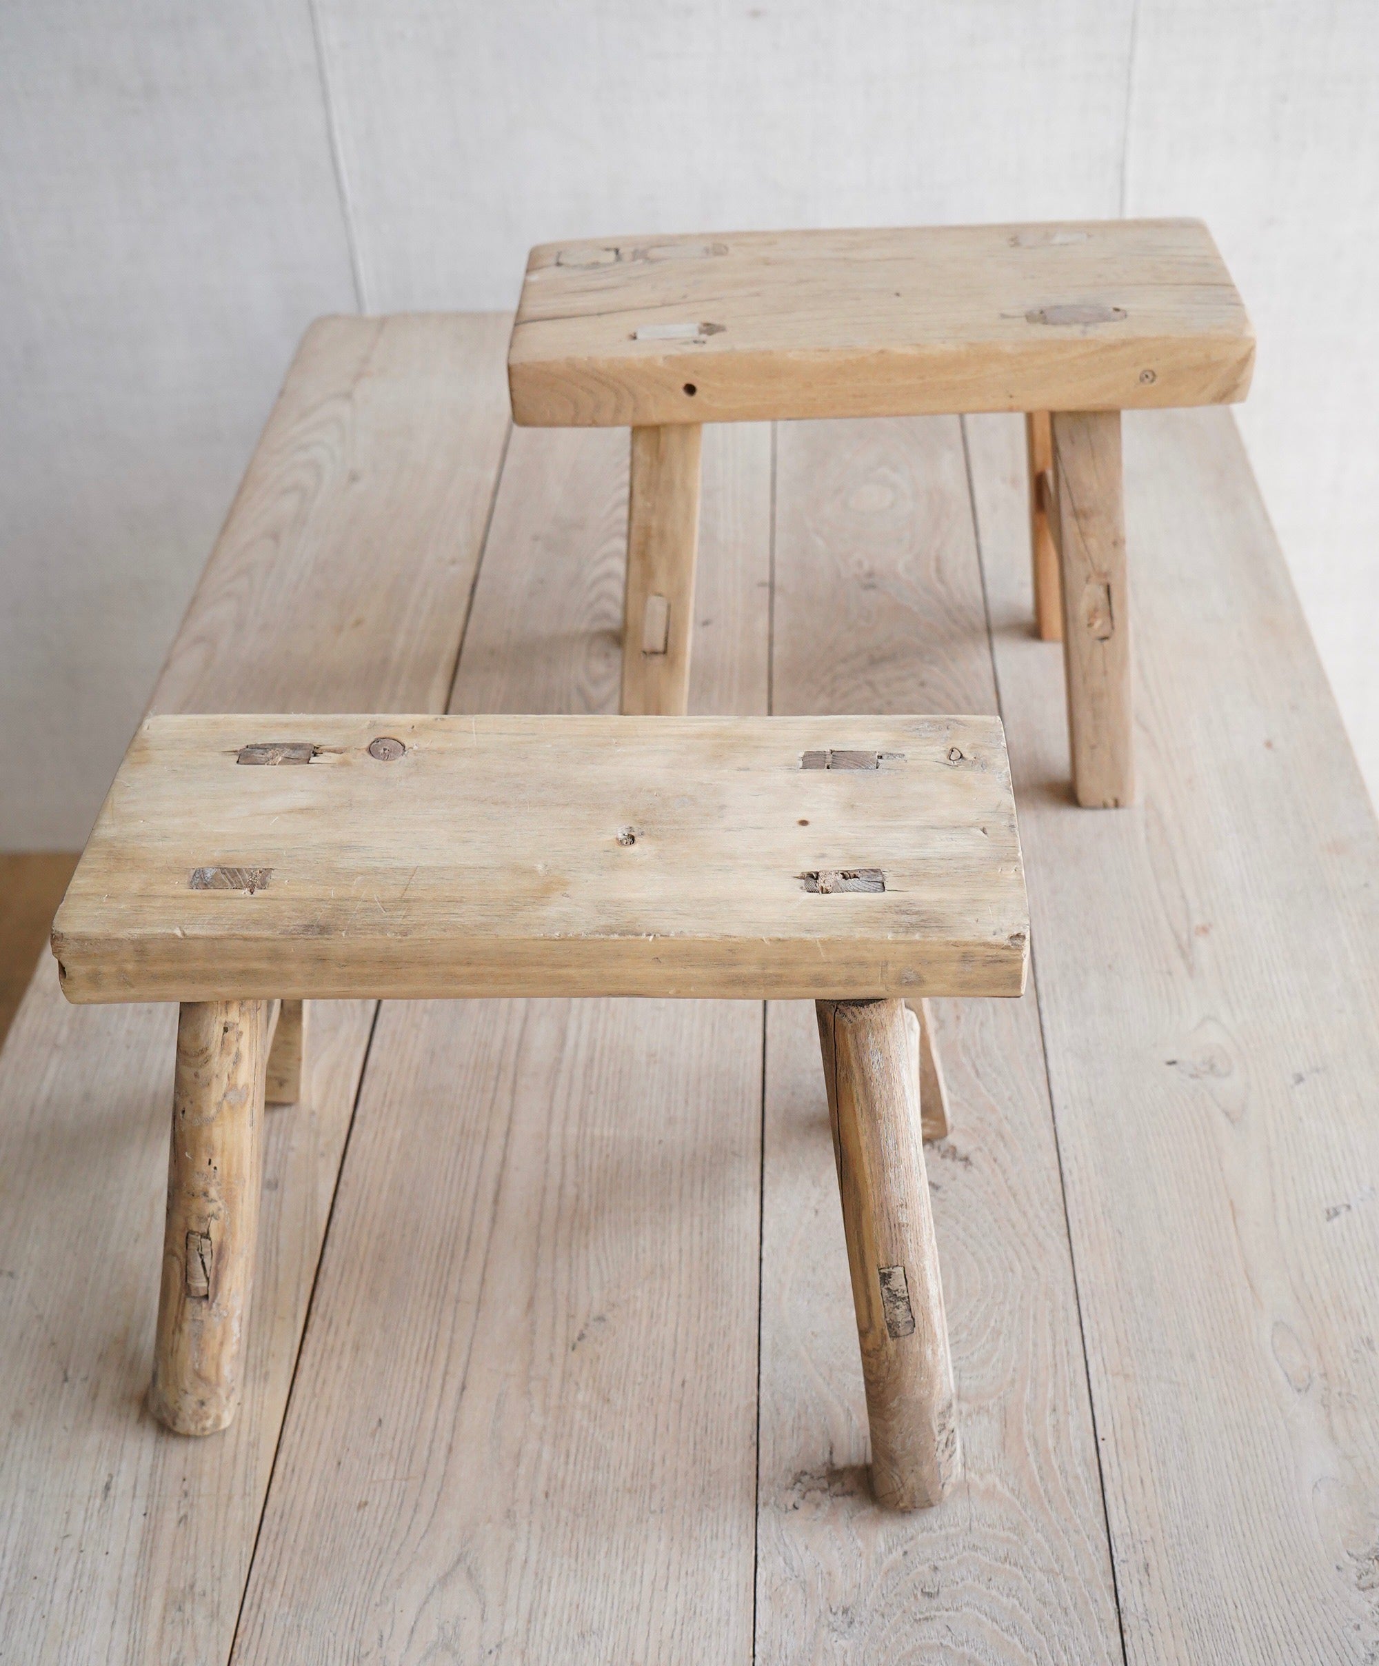
[[[769,440],[704,465],[691,705],[763,711]],[[515,435],[456,710],[616,708],[625,470]],[[753,1003],[383,1008],[236,1666],[749,1658],[759,1095]]]

